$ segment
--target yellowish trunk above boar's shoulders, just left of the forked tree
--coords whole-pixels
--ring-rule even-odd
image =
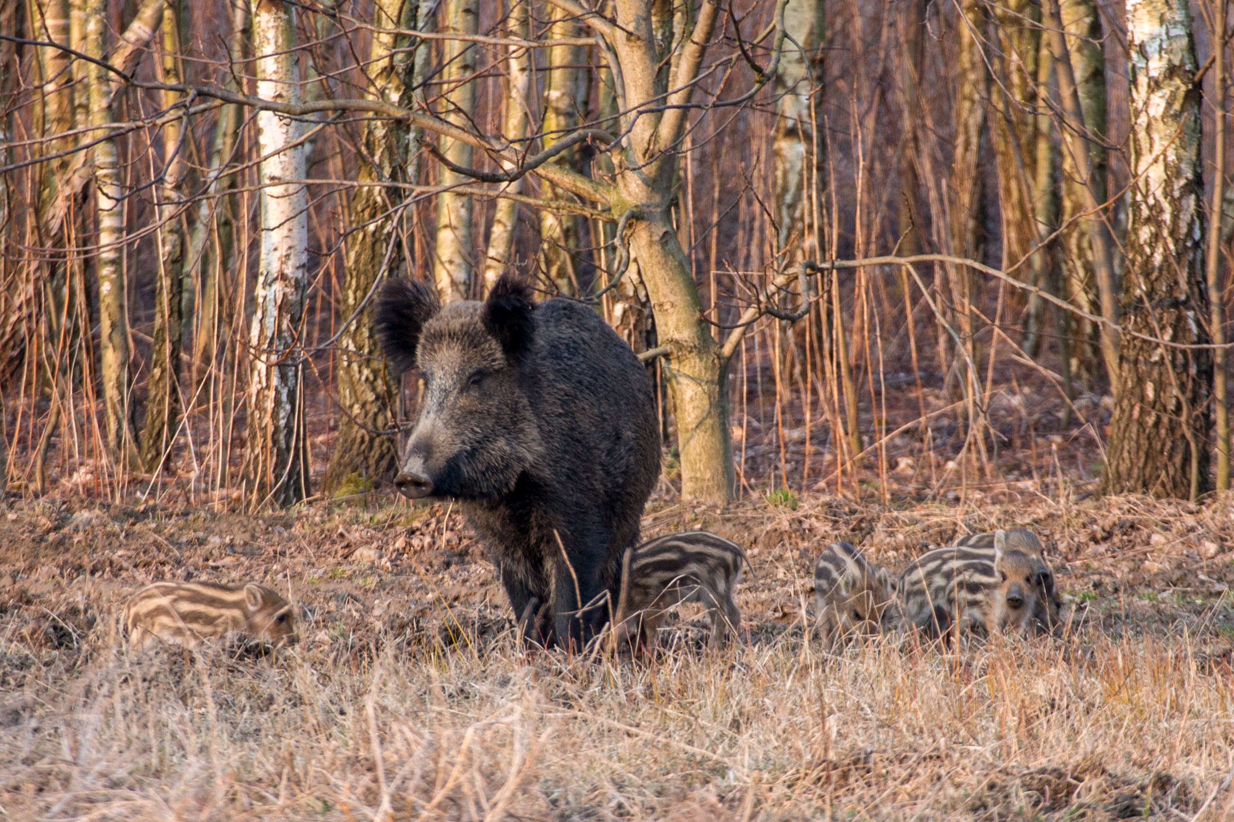
[[[579,37],[582,35],[570,15],[557,6],[549,6],[550,37]],[[581,46],[554,46],[548,51],[548,68],[544,79],[544,148],[569,136],[579,127],[580,111],[586,111],[587,75],[580,68],[586,62],[586,52]],[[559,157],[564,165],[574,168],[578,163],[578,147],[561,152]],[[540,196],[545,200],[569,197],[557,186],[544,183]],[[549,289],[559,294],[579,293],[578,260],[579,235],[581,220],[573,214],[540,211],[540,268],[548,280]]]

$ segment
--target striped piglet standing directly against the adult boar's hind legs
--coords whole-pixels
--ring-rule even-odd
[[[711,616],[711,644],[737,631],[742,612],[733,587],[749,567],[745,550],[707,531],[660,537],[626,552],[617,601],[618,642],[654,648],[665,612],[680,602],[698,602]]]

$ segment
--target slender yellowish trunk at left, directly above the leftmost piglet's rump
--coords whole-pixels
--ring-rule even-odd
[[[86,15],[86,53],[106,57],[106,0],[91,0]],[[107,72],[90,64],[90,123],[111,125]],[[94,147],[95,210],[99,216],[99,253],[95,258],[99,281],[99,349],[102,381],[102,416],[107,449],[118,470],[137,465],[128,396],[128,297],[125,276],[125,210],[121,202],[116,144],[102,139]]]

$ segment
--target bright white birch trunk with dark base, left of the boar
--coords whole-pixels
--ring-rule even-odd
[[[300,102],[292,7],[283,0],[253,4],[257,94]],[[307,495],[301,362],[296,342],[304,318],[308,212],[304,149],[296,121],[271,111],[257,117],[262,181],[262,244],[249,326],[246,481],[255,505],[291,505]]]

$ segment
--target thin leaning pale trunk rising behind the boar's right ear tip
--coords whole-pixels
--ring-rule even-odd
[[[510,37],[531,38],[531,0],[511,0]],[[508,85],[506,89],[506,107],[501,116],[501,133],[506,139],[515,141],[527,136],[531,112],[527,106],[527,93],[531,89],[531,49],[511,46],[507,58]],[[506,191],[518,194],[522,178],[508,183]],[[510,254],[515,247],[515,220],[518,204],[510,197],[501,197],[492,212],[492,228],[489,231],[489,253],[484,258],[484,293],[496,284],[497,278],[511,264]]]

